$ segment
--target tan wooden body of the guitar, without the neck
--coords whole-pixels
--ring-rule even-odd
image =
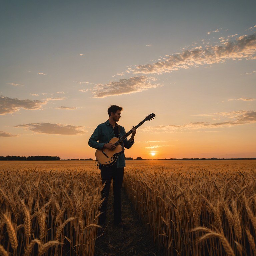
[[[109,143],[115,144],[118,140],[119,138],[114,137],[109,141]],[[114,150],[110,150],[108,148],[96,149],[95,156],[101,165],[111,166],[116,162],[118,155],[122,154],[123,152],[124,147],[118,144]]]

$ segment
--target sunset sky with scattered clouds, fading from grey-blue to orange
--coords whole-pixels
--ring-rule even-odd
[[[18,1],[0,9],[0,156],[93,158],[123,107],[126,157],[256,157],[256,1]]]

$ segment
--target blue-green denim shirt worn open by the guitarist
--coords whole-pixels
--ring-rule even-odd
[[[118,131],[119,131],[119,138],[123,137],[126,132],[123,126],[118,125]],[[112,125],[109,123],[109,120],[107,120],[105,123],[99,124],[96,129],[94,130],[91,138],[88,141],[88,144],[92,148],[96,149],[102,149],[104,144],[109,143],[109,141],[115,137],[114,129]],[[134,144],[130,140],[123,141],[125,148],[130,148]],[[125,155],[124,153],[118,155],[117,158],[117,167],[125,167]]]

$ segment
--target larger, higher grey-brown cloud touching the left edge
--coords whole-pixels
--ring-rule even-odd
[[[20,108],[36,110],[45,105],[47,101],[40,100],[19,100],[12,99],[7,96],[0,96],[0,115],[11,114],[18,111]]]

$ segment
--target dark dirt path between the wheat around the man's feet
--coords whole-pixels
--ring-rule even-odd
[[[96,239],[95,256],[159,256],[146,230],[140,223],[129,199],[122,191],[122,219],[129,229],[116,228],[113,224],[113,196],[110,191],[108,202],[107,226]]]

